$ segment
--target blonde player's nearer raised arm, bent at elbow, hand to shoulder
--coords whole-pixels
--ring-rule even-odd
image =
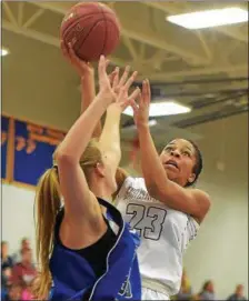
[[[84,113],[71,127],[56,152],[60,189],[64,200],[64,213],[66,218],[73,223],[94,221],[98,224],[102,221],[100,207],[89,190],[79,162],[94,127],[116,98],[106,73],[106,64],[104,57],[101,57],[99,61],[100,91]]]

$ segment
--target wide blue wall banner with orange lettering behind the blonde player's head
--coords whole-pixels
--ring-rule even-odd
[[[52,154],[64,134],[23,121],[14,121],[13,181],[36,185],[52,167]]]

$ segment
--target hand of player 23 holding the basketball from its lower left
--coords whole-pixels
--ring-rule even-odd
[[[91,64],[79,59],[76,56],[76,52],[70,43],[67,47],[64,41],[62,40],[60,46],[64,58],[72,64],[72,67],[76,69],[77,73],[81,78],[94,74],[94,69],[91,67]]]

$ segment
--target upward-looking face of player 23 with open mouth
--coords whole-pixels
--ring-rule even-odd
[[[189,141],[185,139],[172,140],[165,147],[160,160],[171,181],[185,187],[195,180],[196,150]]]

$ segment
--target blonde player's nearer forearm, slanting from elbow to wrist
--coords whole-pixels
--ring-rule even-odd
[[[99,122],[101,116],[107,110],[108,102],[98,94],[86,112],[80,116],[72,128],[67,133],[64,140],[58,148],[58,155],[67,155],[79,162],[84,149],[87,148],[93,130]],[[81,139],[79,139],[81,138]]]

